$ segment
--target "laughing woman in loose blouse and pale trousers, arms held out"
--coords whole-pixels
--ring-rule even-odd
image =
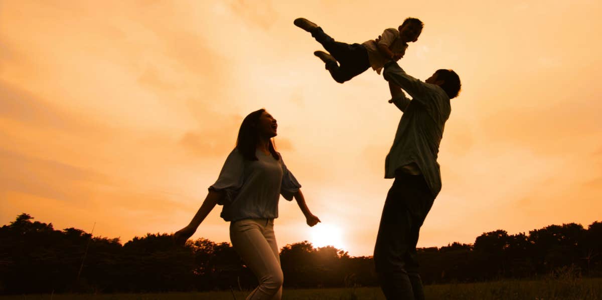
[[[190,224],[174,234],[184,244],[216,204],[223,205],[222,218],[230,222],[230,240],[244,263],[255,273],[259,286],[249,299],[281,299],[282,269],[274,234],[278,199],[299,204],[306,222],[320,222],[309,212],[301,185],[276,152],[272,138],[278,124],[265,109],[251,112],[238,131],[237,144],[228,155],[220,175]]]

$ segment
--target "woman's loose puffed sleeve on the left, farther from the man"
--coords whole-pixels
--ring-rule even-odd
[[[234,198],[236,198],[240,188],[243,186],[243,177],[244,158],[238,152],[238,149],[235,148],[228,155],[228,158],[226,158],[226,162],[216,183],[209,186],[209,191],[223,192],[224,197],[221,197],[217,204],[229,204],[234,201]]]

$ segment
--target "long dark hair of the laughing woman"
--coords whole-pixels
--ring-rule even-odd
[[[236,139],[236,148],[247,161],[257,160],[255,151],[257,149],[257,144],[259,143],[258,124],[259,117],[261,117],[261,114],[264,111],[265,109],[262,108],[258,111],[251,112],[244,118],[243,123],[240,124],[238,138]],[[268,150],[270,150],[270,153],[272,153],[272,156],[276,159],[276,161],[280,159],[280,155],[278,155],[278,152],[276,152],[276,148],[274,147],[274,142],[272,139],[270,139]]]

